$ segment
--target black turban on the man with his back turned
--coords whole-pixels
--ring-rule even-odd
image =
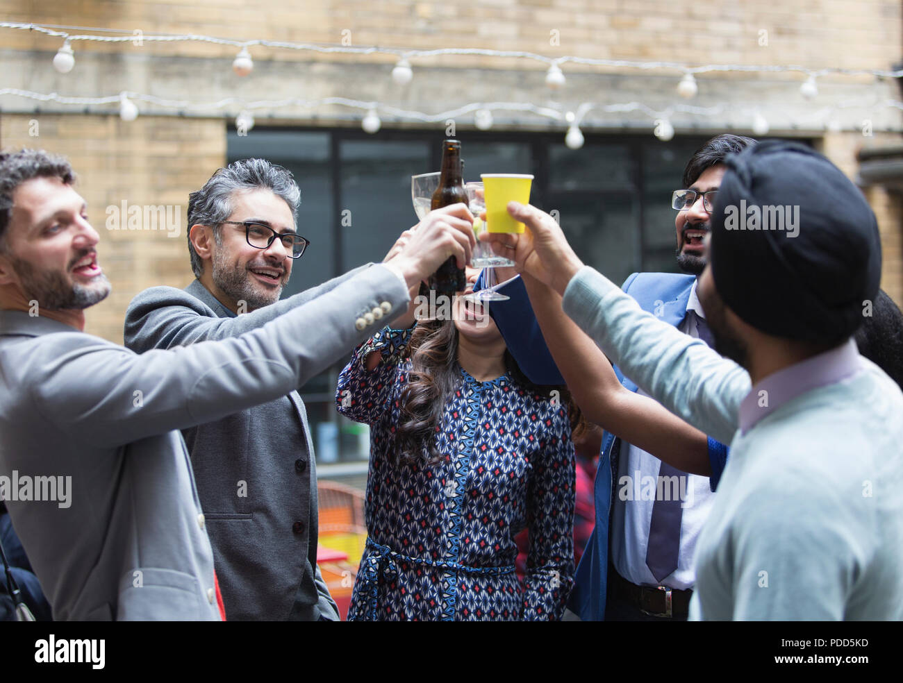
[[[769,140],[724,163],[710,245],[721,299],[775,337],[850,337],[881,278],[878,222],[861,191],[798,143]]]

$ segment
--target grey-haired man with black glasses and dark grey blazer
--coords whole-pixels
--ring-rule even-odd
[[[154,287],[135,297],[126,313],[126,346],[144,353],[235,337],[342,283],[367,287],[365,265],[279,301],[307,245],[295,230],[299,198],[291,173],[263,159],[214,173],[188,205],[197,280],[185,290]],[[378,307],[341,305],[359,328],[385,324],[375,323],[384,316]],[[350,350],[320,318],[306,319],[304,337],[321,353]],[[317,477],[300,386],[182,432],[229,619],[339,619],[317,568]]]

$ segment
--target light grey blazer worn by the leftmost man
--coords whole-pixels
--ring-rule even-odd
[[[372,266],[240,337],[143,355],[0,311],[0,477],[43,482],[6,505],[54,618],[218,620],[209,525],[174,430],[284,397],[407,300]],[[329,334],[311,335],[312,320]],[[71,477],[68,504],[35,500],[51,476]]]

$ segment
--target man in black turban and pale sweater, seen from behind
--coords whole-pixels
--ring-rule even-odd
[[[803,145],[759,143],[725,164],[698,290],[715,349],[742,367],[638,309],[543,212],[510,204],[529,230],[490,239],[563,294],[624,374],[731,443],[691,618],[899,620],[903,393],[852,340],[878,293],[874,214]]]

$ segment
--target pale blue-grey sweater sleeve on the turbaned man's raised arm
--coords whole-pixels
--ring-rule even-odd
[[[729,444],[749,374],[705,343],[639,308],[590,266],[564,291],[563,309],[621,372],[669,411]]]

